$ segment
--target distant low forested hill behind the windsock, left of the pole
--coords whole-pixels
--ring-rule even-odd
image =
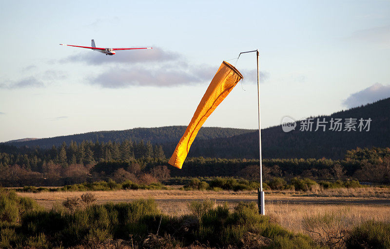
[[[180,137],[184,134],[186,126],[165,126],[157,128],[135,128],[124,131],[102,131],[90,132],[84,134],[74,134],[67,136],[56,136],[42,139],[20,139],[6,142],[7,145],[14,145],[16,147],[39,146],[42,149],[49,149],[53,145],[59,147],[63,142],[70,144],[71,141],[80,143],[85,141],[99,141],[105,142],[122,142],[131,139],[133,142],[150,141],[152,144],[167,144],[177,143]],[[251,133],[255,130],[248,129],[234,129],[234,128],[219,128],[219,127],[202,127],[196,136],[197,140],[227,138],[234,135]]]

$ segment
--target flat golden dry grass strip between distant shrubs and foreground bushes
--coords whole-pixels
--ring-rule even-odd
[[[61,202],[67,197],[80,196],[83,192],[18,192],[20,196],[30,197],[50,209],[54,203]],[[98,203],[128,202],[135,199],[153,198],[158,203],[177,206],[192,200],[214,199],[217,201],[255,201],[255,191],[182,191],[172,190],[118,190],[118,191],[95,191],[93,192]],[[315,204],[354,204],[354,203],[383,203],[390,199],[390,188],[356,188],[356,189],[331,189],[315,192],[293,192],[293,191],[267,191],[265,192],[266,202],[273,203],[315,203]],[[381,202],[382,201],[382,202]],[[185,206],[185,205],[184,205]],[[390,206],[389,206],[390,207]]]

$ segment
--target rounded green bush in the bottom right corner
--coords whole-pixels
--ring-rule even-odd
[[[390,248],[390,223],[367,221],[356,227],[347,235],[347,248]]]

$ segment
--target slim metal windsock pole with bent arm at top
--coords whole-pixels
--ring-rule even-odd
[[[260,161],[260,188],[257,189],[257,206],[259,213],[264,215],[264,191],[263,191],[263,172],[262,172],[262,160],[261,160],[261,127],[260,127],[260,67],[259,67],[259,51],[247,51],[241,52],[238,55],[238,58],[241,54],[256,52],[257,57],[257,103],[258,103],[258,117],[259,117],[259,161]],[[237,59],[238,59],[237,58]]]

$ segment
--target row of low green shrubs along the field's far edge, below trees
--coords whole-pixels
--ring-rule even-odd
[[[174,178],[167,182],[174,182],[176,185],[182,185],[183,190],[201,190],[201,191],[254,191],[260,188],[260,182],[248,181],[242,178],[232,177],[200,177],[200,178]],[[292,178],[289,183],[280,177],[273,177],[270,181],[263,182],[264,190],[295,190],[295,191],[316,191],[322,189],[337,189],[337,188],[362,188],[359,181],[313,181],[309,178]],[[17,192],[71,192],[71,191],[115,191],[115,190],[169,190],[169,187],[160,182],[152,182],[149,184],[137,184],[130,180],[122,183],[117,183],[109,179],[98,182],[84,182],[81,184],[66,185],[59,188],[46,188],[24,186],[23,188],[16,188]]]

